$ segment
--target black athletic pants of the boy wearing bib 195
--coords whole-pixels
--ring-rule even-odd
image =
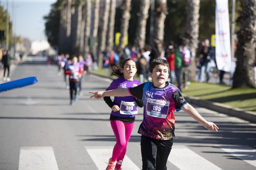
[[[141,136],[142,170],[165,170],[173,139],[158,140]]]

